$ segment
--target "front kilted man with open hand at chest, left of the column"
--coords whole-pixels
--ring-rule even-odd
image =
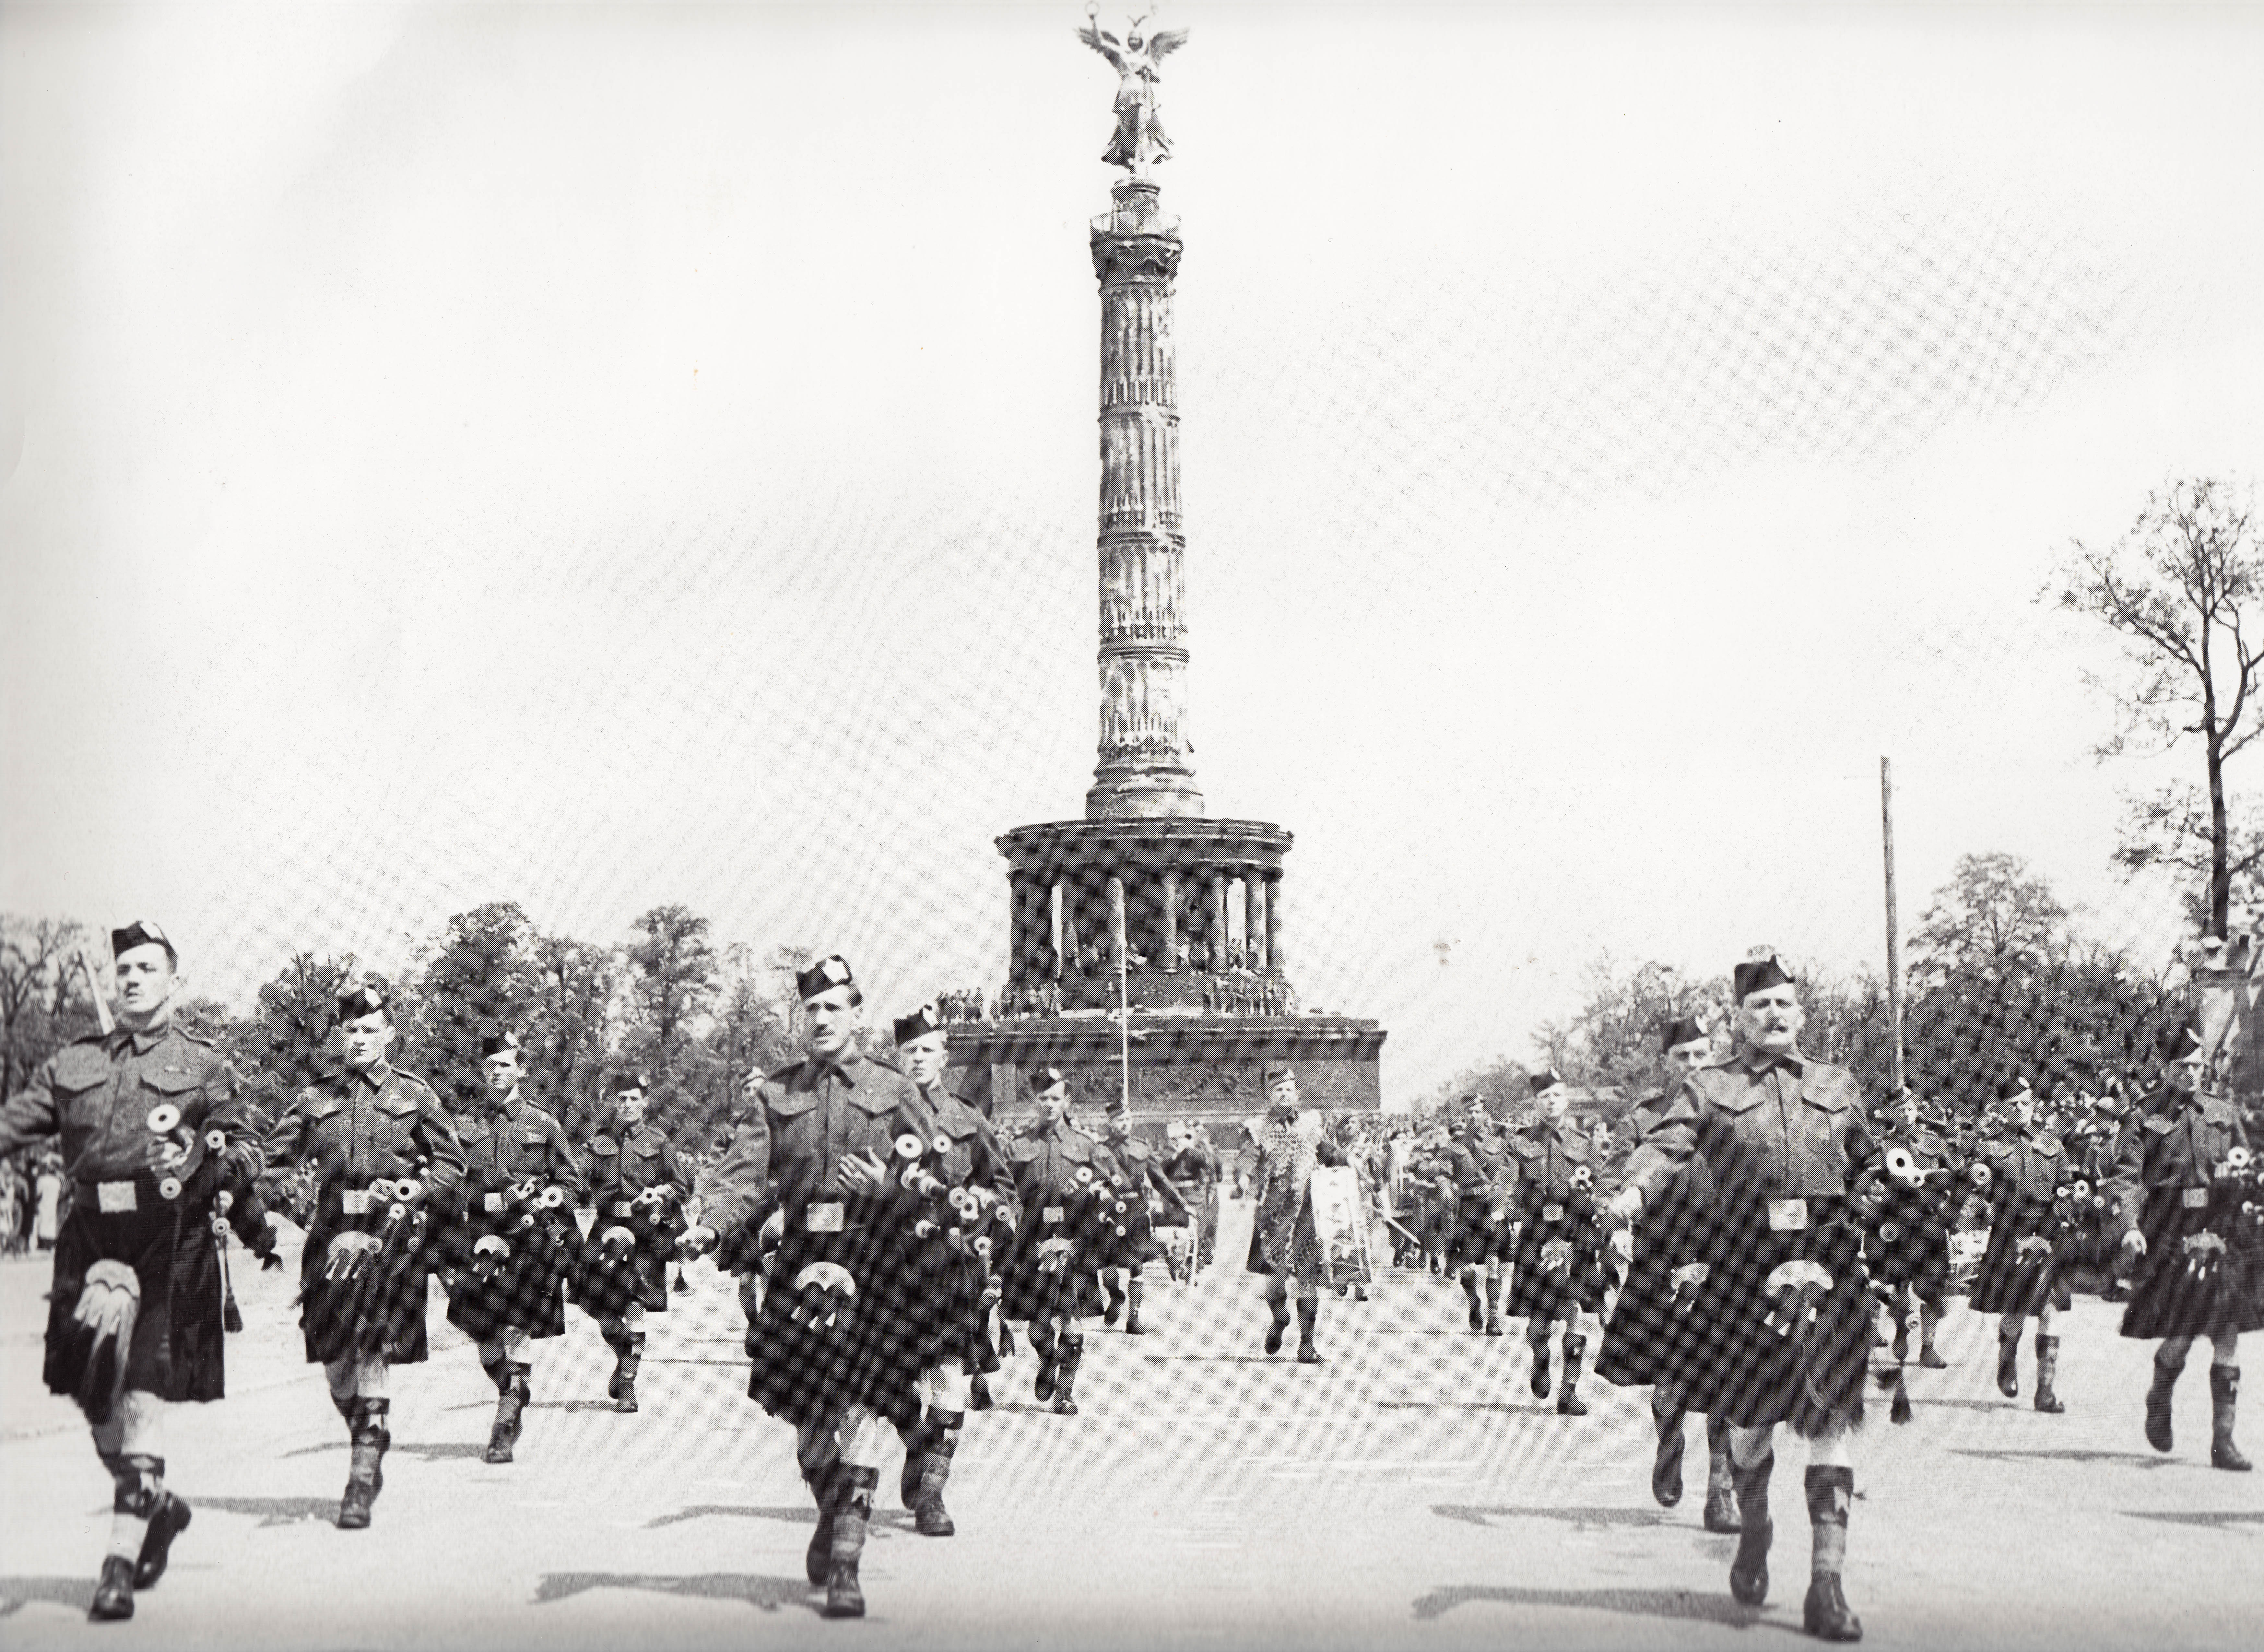
[[[777,1184],[786,1236],[763,1317],[747,1333],[747,1396],[795,1426],[795,1457],[817,1503],[804,1573],[829,1618],[863,1618],[858,1561],[881,1485],[881,1419],[919,1414],[906,1335],[899,1222],[917,1213],[890,1163],[921,1136],[926,1104],[890,1061],[858,1050],[865,993],[838,953],[795,973],[808,1055],[772,1073],[700,1188],[684,1247],[706,1251],[758,1215]],[[754,1224],[761,1227],[761,1220]]]

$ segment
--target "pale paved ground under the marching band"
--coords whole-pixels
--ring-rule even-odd
[[[1229,1206],[1220,1256],[1241,1256],[1243,1233]],[[872,1616],[829,1625],[801,1582],[792,1437],[745,1399],[729,1281],[706,1265],[693,1279],[654,1322],[636,1417],[602,1399],[593,1324],[539,1344],[512,1466],[480,1462],[494,1389],[462,1340],[437,1337],[428,1365],[394,1374],[401,1444],[376,1525],[340,1532],[344,1430],[299,1362],[297,1267],[240,1276],[231,1399],[174,1410],[172,1480],[197,1523],[136,1620],[95,1627],[82,1614],[109,1480],[77,1412],[38,1385],[45,1270],[0,1265],[0,1647],[1703,1650],[1798,1632],[1793,1453],[1777,1591],[1746,1611],[1725,1584],[1732,1539],[1698,1530],[1696,1496],[1650,1503],[1641,1394],[1592,1383],[1587,1419],[1555,1417],[1524,1389],[1515,1331],[1472,1335],[1460,1292],[1410,1274],[1322,1306],[1327,1365],[1268,1360],[1257,1281],[1236,1270],[1193,1297],[1159,1288],[1143,1340],[1096,1326],[1082,1417],[1037,1408],[1028,1351],[1010,1360],[1001,1408],[960,1448],[960,1537],[921,1539],[890,1507],[865,1552]],[[1992,1333],[1963,1308],[1954,1369],[1913,1378],[1918,1421],[1890,1428],[1875,1408],[1847,1575],[1870,1645],[2255,1643],[2264,1475],[2207,1466],[2198,1369],[2180,1451],[2146,1448],[2144,1353],[2112,1313],[2083,1299],[2072,1317],[2067,1417],[1997,1396]],[[2264,1408],[2246,1435],[2264,1453]]]

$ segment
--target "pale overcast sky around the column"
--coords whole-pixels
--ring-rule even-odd
[[[1107,14],[1103,20],[1109,20]],[[2072,534],[2264,453],[2264,9],[1175,5],[1195,772],[1386,1095],[2110,876]],[[0,905],[1005,973],[1094,767],[1080,5],[0,11]],[[1121,25],[1121,18],[1116,18]],[[1449,962],[1438,946],[1451,944]]]

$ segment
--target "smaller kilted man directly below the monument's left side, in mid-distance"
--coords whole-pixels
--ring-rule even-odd
[[[1007,1141],[1005,1161],[1021,1199],[1021,1256],[1005,1281],[1005,1317],[1030,1322],[1037,1351],[1037,1399],[1060,1417],[1078,1414],[1078,1365],[1084,1360],[1084,1319],[1078,1276],[1094,1267],[1098,1170],[1094,1141],[1069,1125],[1069,1079],[1060,1068],[1030,1075],[1037,1122]]]

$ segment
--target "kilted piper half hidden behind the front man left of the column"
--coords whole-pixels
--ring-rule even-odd
[[[912,1369],[928,1380],[928,1417],[924,1423],[915,1417],[897,1423],[897,1437],[903,1439],[903,1478],[897,1489],[903,1507],[912,1509],[921,1537],[951,1537],[958,1528],[944,1509],[944,1485],[951,1480],[951,1460],[967,1423],[971,1383],[980,1380],[985,1369],[998,1369],[998,1356],[983,1335],[992,1270],[980,1247],[989,1247],[992,1240],[967,1236],[980,1233],[980,1227],[996,1220],[998,1242],[1014,1242],[1014,1177],[983,1113],[944,1089],[951,1046],[931,1007],[921,1005],[910,1016],[897,1018],[897,1057],[919,1100],[928,1104],[933,1116],[928,1134],[949,1143],[942,1154],[942,1181],[953,1193],[980,1188],[998,1206],[996,1215],[980,1224],[958,1224],[951,1220],[951,1204],[931,1202],[926,1220],[935,1231],[906,1245]]]

